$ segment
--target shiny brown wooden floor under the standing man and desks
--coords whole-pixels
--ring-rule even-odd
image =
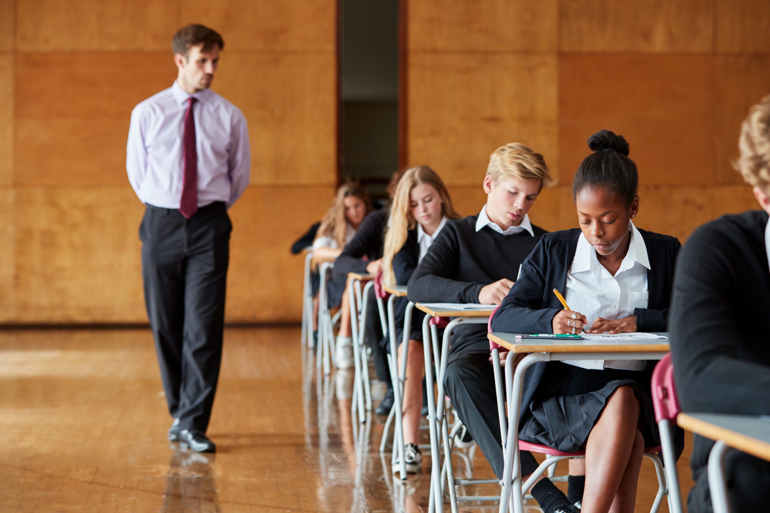
[[[378,451],[384,418],[354,425],[352,375],[315,375],[299,338],[226,330],[209,427],[218,451],[199,455],[166,441],[148,330],[0,331],[0,511],[427,511],[427,472],[393,481]],[[472,461],[491,476],[480,451],[463,456],[460,471]],[[645,461],[637,511],[657,486]]]

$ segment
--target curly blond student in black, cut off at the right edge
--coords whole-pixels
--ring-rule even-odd
[[[688,238],[671,299],[671,357],[685,411],[770,415],[770,96],[749,111],[739,146],[736,168],[762,210],[724,215]],[[689,511],[711,511],[713,446],[695,435]],[[725,473],[732,511],[768,508],[768,461],[731,450]]]

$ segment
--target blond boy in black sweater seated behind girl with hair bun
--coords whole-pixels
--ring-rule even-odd
[[[519,265],[546,233],[532,225],[527,212],[551,183],[543,155],[517,142],[497,148],[484,177],[487,204],[477,215],[444,225],[409,280],[410,300],[499,305]],[[455,328],[444,385],[463,424],[500,478],[503,451],[486,325]],[[456,438],[455,443],[465,441]],[[521,468],[524,475],[537,468],[527,451],[521,452]],[[560,497],[565,508],[569,505],[547,478],[535,485],[532,494],[541,505],[554,497]]]

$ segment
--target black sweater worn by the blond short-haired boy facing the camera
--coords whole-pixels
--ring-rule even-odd
[[[447,221],[407,285],[416,303],[477,303],[482,288],[494,281],[516,280],[519,265],[547,232],[532,225],[502,235],[489,226],[476,231],[478,215]],[[489,351],[486,325],[460,325],[452,337],[452,353]]]

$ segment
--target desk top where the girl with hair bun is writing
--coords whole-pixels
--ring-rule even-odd
[[[516,340],[521,333],[488,333],[487,338],[514,353],[630,353],[630,352],[668,352],[671,350],[668,339],[651,338],[650,340],[555,340],[544,338],[524,338]],[[655,335],[668,335],[656,333]]]

